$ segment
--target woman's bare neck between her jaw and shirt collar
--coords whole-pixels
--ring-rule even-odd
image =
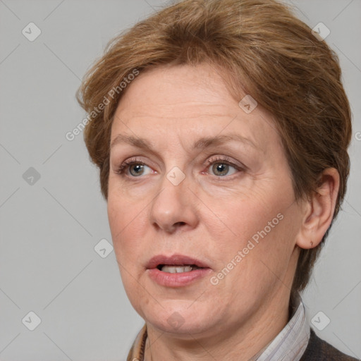
[[[175,335],[147,325],[145,361],[247,361],[268,345],[288,322],[289,292],[278,290],[247,322],[225,323],[202,334]]]

